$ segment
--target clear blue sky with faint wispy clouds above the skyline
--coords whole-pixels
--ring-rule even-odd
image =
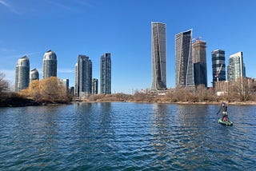
[[[0,0],[0,72],[14,85],[19,58],[30,59],[42,78],[42,58],[53,50],[58,78],[74,86],[78,54],[89,56],[93,78],[100,57],[111,53],[112,93],[150,88],[151,22],[166,23],[166,81],[175,86],[175,34],[193,30],[206,41],[208,86],[211,51],[243,52],[246,76],[256,78],[254,0]]]

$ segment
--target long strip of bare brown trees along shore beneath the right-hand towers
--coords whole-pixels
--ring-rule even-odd
[[[256,82],[251,79],[242,78],[230,82],[226,91],[219,95],[213,88],[198,85],[193,89],[176,87],[162,92],[145,92],[136,90],[133,95],[125,93],[97,94],[86,98],[88,101],[141,101],[141,102],[245,102],[256,101]]]

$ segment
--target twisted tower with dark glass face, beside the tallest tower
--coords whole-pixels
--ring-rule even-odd
[[[192,30],[175,36],[176,86],[194,87]]]

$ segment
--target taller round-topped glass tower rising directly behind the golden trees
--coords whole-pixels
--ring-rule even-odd
[[[42,78],[57,77],[57,56],[52,50],[48,50],[42,60]]]

